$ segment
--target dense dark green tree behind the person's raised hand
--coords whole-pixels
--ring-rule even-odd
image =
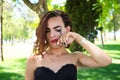
[[[69,13],[73,30],[90,41],[94,42],[97,32],[94,30],[101,13],[101,5],[97,0],[67,0],[65,5],[66,12]],[[77,43],[72,44],[71,50],[82,50]]]

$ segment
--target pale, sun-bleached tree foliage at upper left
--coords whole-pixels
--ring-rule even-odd
[[[17,5],[16,5],[17,4]],[[4,24],[3,24],[3,39],[5,41],[13,42],[23,41],[31,37],[33,33],[34,19],[36,14],[34,14],[30,9],[23,3],[9,3],[5,2],[4,7],[9,6],[7,9],[4,8]],[[11,8],[10,8],[11,7]],[[23,12],[25,10],[25,12]],[[16,15],[17,12],[17,15]],[[13,15],[15,14],[15,15]],[[31,26],[32,25],[32,26]],[[16,33],[17,31],[17,33]]]

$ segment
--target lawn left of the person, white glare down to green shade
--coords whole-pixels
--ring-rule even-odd
[[[21,46],[22,45],[22,46]],[[0,62],[0,80],[24,80],[25,64],[32,45],[4,45],[4,62]]]

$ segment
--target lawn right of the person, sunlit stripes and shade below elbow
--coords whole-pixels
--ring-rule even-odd
[[[104,47],[96,42],[112,57],[112,64],[102,68],[82,68],[78,71],[78,80],[120,80],[120,41],[106,42]]]

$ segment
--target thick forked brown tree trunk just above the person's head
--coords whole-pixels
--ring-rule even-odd
[[[41,18],[42,15],[48,11],[47,0],[38,0],[38,3],[33,4],[29,0],[23,0],[24,3],[33,11],[35,11]]]

